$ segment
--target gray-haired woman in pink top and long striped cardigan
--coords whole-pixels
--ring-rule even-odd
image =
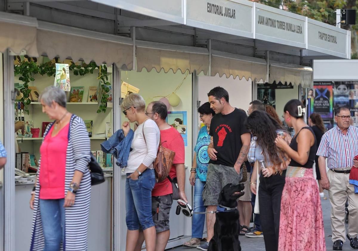
[[[30,199],[34,209],[30,251],[85,251],[91,196],[88,132],[83,120],[67,111],[64,91],[47,87],[39,100],[42,112],[55,121],[46,128],[40,147]]]

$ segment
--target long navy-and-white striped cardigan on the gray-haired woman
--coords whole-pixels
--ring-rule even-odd
[[[51,123],[44,133],[44,138],[53,126]],[[72,115],[68,131],[68,146],[66,154],[66,176],[64,196],[69,189],[74,171],[83,172],[80,188],[76,193],[74,205],[65,208],[65,238],[61,251],[86,251],[89,202],[91,200],[91,175],[88,169],[91,144],[84,122],[80,117]],[[55,161],[55,160],[54,160]],[[39,161],[40,164],[40,161]],[[39,207],[39,175],[36,183],[34,213],[32,221],[32,237],[30,251],[42,251],[44,248],[44,235]]]

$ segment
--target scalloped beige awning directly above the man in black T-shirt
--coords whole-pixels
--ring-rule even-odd
[[[247,57],[227,52],[212,50],[211,76],[219,74],[234,79],[245,77],[246,80],[266,80],[266,61],[262,58]]]

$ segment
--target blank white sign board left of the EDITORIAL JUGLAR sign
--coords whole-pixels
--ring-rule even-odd
[[[142,15],[152,16],[170,22],[185,24],[184,0],[92,0],[118,9],[129,10]]]

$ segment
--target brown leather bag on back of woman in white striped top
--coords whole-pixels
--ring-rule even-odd
[[[144,135],[144,123],[143,123],[143,137],[145,144],[147,141],[145,140]],[[164,141],[165,142],[165,141]],[[161,145],[161,137],[159,139],[159,147],[157,157],[153,162],[154,171],[155,171],[155,179],[156,182],[159,183],[167,178],[169,175],[170,169],[173,166],[173,160],[175,156],[175,152]]]

